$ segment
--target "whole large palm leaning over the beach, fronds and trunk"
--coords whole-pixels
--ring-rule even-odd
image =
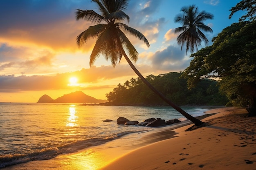
[[[84,19],[96,23],[94,26],[89,26],[88,29],[83,31],[76,38],[76,42],[79,47],[86,43],[89,38],[97,38],[95,46],[92,50],[92,54],[90,55],[90,66],[94,64],[95,60],[101,54],[105,56],[106,60],[111,60],[113,67],[115,67],[124,56],[133,71],[135,71],[139,78],[152,91],[159,95],[159,97],[170,104],[178,112],[184,115],[184,117],[191,120],[195,126],[202,125],[202,121],[189,115],[180,107],[173,104],[162,93],[159,93],[132,64],[131,60],[135,62],[137,61],[138,52],[128,40],[125,33],[134,35],[139,40],[142,40],[148,47],[150,45],[142,33],[124,23],[121,23],[121,21],[127,20],[129,22],[130,20],[129,16],[123,11],[128,6],[128,0],[92,0],[92,2],[97,3],[101,15],[93,10],[76,9],[76,20]],[[128,55],[126,55],[125,50],[127,51],[131,60],[129,59]]]

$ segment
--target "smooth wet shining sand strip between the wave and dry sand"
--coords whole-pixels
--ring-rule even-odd
[[[213,113],[213,115],[214,114],[215,113]],[[198,119],[203,119],[204,117],[208,117],[210,115],[211,114],[205,113],[205,115],[199,116]],[[176,135],[173,129],[187,125],[191,126],[192,124],[193,123],[191,121],[182,121],[181,123],[154,128],[153,130],[146,132],[135,132],[125,135],[119,139],[107,142],[106,144],[92,146],[90,148],[79,150],[78,152],[58,155],[57,157],[49,160],[29,161],[27,163],[8,166],[6,168],[10,170],[34,170],[34,167],[37,167],[37,170],[98,170],[99,168],[106,166],[115,159],[133,150],[137,150],[138,148],[158,141],[173,138],[174,135]]]

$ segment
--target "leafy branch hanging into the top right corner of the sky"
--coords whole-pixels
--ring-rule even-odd
[[[254,21],[256,19],[256,0],[241,0],[238,2],[235,7],[232,7],[229,10],[231,11],[229,19],[233,16],[234,13],[240,10],[247,11],[247,13],[240,17],[239,21],[244,21],[247,18]]]

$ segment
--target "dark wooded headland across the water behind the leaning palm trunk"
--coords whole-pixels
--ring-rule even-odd
[[[204,79],[195,88],[187,88],[187,79],[181,78],[182,73],[171,72],[158,76],[148,75],[146,79],[168,99],[179,105],[225,105],[227,97],[219,92],[217,82]],[[119,84],[113,91],[107,93],[107,99],[116,105],[166,105],[140,79],[136,85],[125,88]],[[131,83],[130,83],[131,84]],[[114,99],[109,97],[114,96]]]

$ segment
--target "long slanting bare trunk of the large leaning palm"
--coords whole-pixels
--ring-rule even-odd
[[[122,49],[122,48],[121,48]],[[139,73],[139,71],[137,70],[137,68],[132,64],[132,62],[130,61],[129,57],[126,55],[124,49],[122,49],[122,53],[124,55],[124,58],[126,59],[126,61],[128,62],[128,64],[130,65],[130,67],[132,68],[132,70],[139,76],[139,78],[153,91],[155,92],[159,97],[161,97],[164,102],[168,103],[170,106],[172,106],[175,110],[177,110],[178,112],[180,112],[184,117],[186,117],[187,119],[189,119],[190,121],[192,121],[195,126],[200,126],[203,124],[202,121],[200,121],[199,119],[196,119],[195,117],[189,115],[188,113],[186,113],[182,108],[180,108],[179,106],[175,105],[173,102],[171,102],[171,100],[169,100],[168,98],[166,98],[162,93],[160,93],[159,91],[157,91],[157,89],[155,89],[144,77],[143,75],[141,75],[141,73]]]

